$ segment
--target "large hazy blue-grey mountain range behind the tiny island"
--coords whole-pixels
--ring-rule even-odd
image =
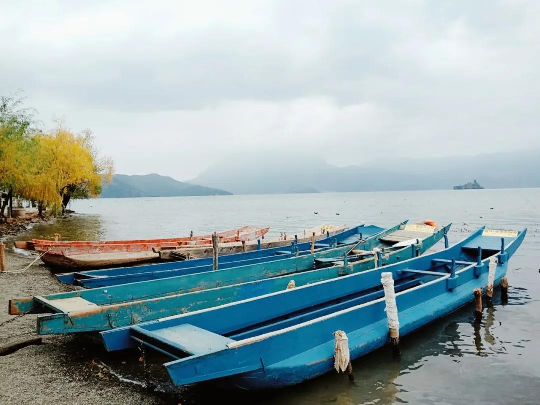
[[[382,158],[337,167],[317,158],[259,154],[230,157],[189,183],[234,194],[452,190],[478,179],[485,188],[540,187],[540,150],[450,158]]]

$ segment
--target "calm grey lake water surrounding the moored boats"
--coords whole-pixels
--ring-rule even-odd
[[[255,395],[224,396],[195,387],[191,398],[268,404],[539,402],[540,189],[100,199],[76,201],[71,208],[78,214],[37,226],[25,237],[52,238],[57,232],[78,240],[175,237],[248,224],[293,235],[319,224],[386,227],[404,219],[433,219],[452,222],[449,237],[456,242],[482,225],[527,227],[527,238],[510,261],[509,303],[501,305],[497,291],[481,324],[474,322],[474,306],[460,309],[404,337],[399,361],[389,348],[354,361],[354,384],[346,375],[329,373]]]

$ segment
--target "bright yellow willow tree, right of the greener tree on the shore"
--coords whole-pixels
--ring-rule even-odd
[[[63,212],[70,199],[97,197],[103,181],[110,182],[112,161],[99,160],[90,132],[75,135],[57,130],[33,137],[35,161],[21,194]]]

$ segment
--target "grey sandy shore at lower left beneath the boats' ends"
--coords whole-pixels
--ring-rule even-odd
[[[17,271],[32,259],[7,253],[8,271]],[[76,288],[60,284],[37,262],[22,274],[0,274],[0,323],[14,318],[8,301]],[[37,315],[25,315],[0,327],[0,347],[36,338]],[[30,346],[0,356],[0,403],[3,404],[162,404],[199,402],[193,394],[171,386],[161,359],[150,359],[145,373],[134,352],[107,353],[95,336],[43,336],[41,346]],[[143,386],[145,375],[156,390]],[[196,394],[195,394],[196,396]]]

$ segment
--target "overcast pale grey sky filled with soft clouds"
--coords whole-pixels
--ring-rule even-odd
[[[0,0],[0,95],[117,173],[540,146],[540,2]]]

